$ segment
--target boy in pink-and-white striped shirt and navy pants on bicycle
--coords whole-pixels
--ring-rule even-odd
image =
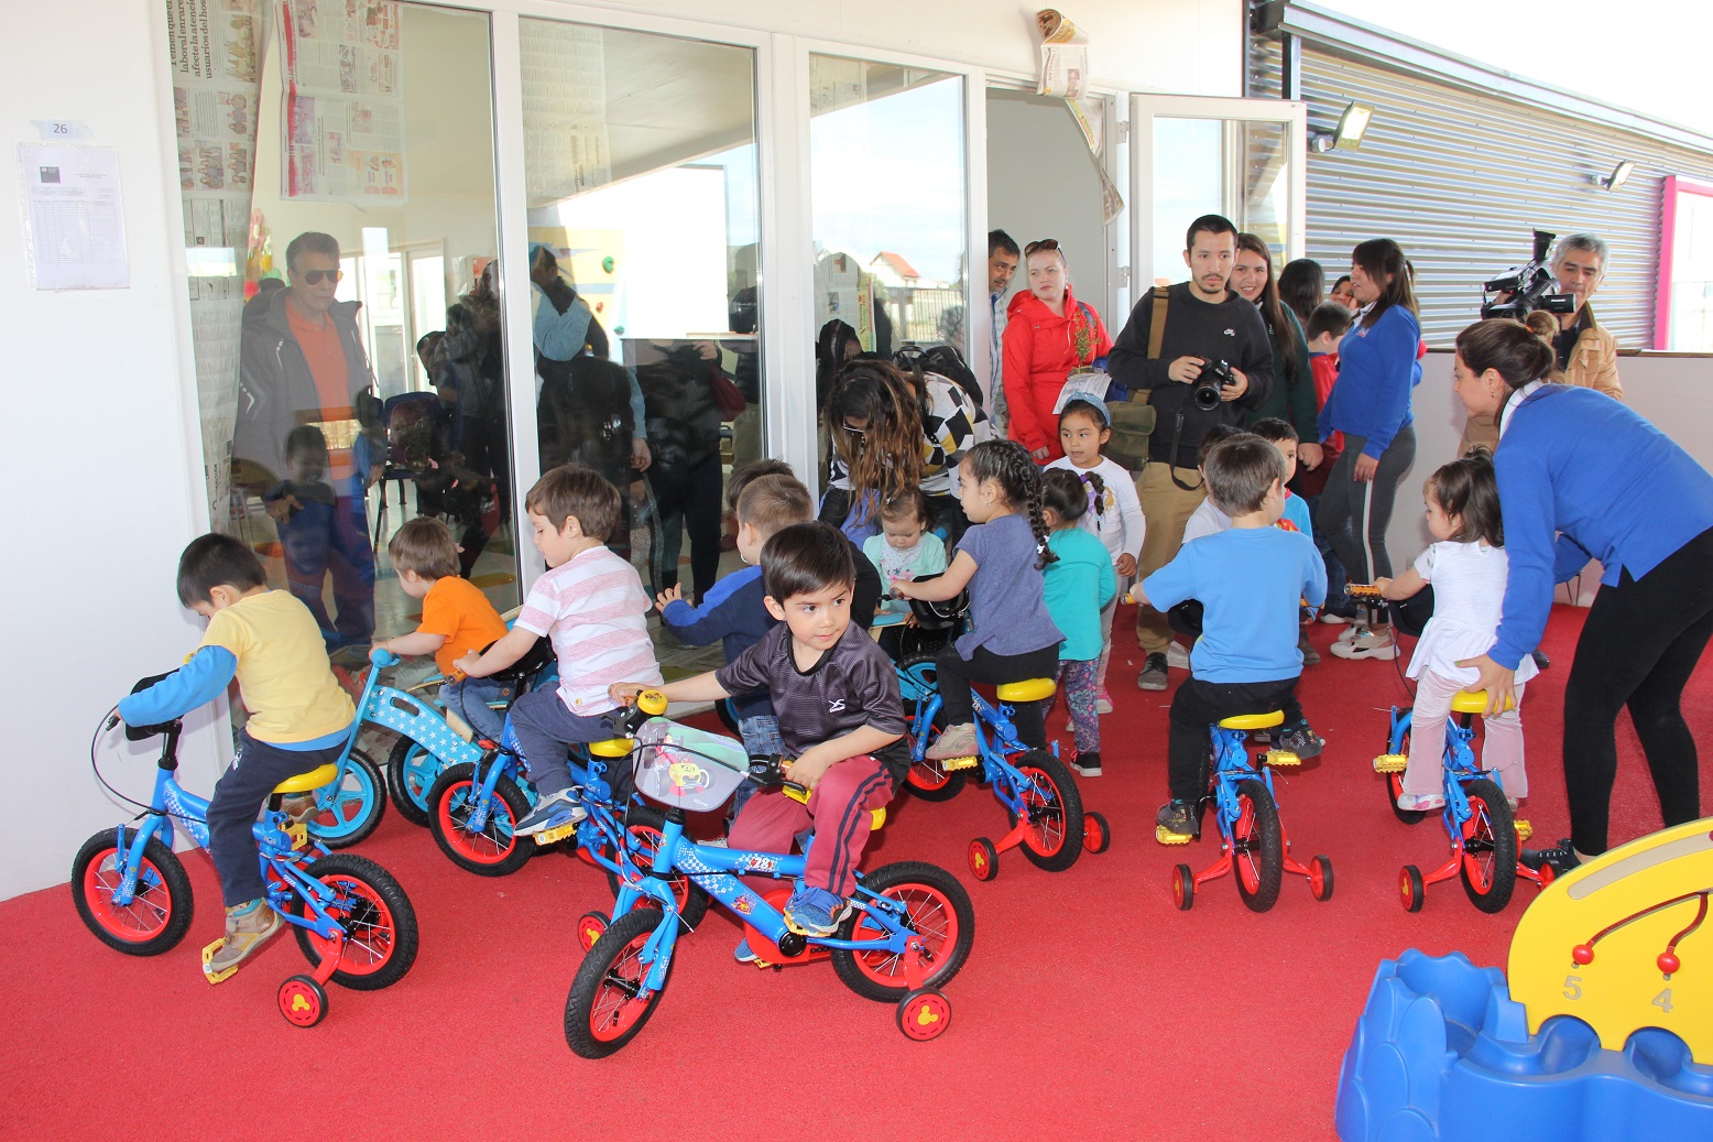
[[[558,688],[521,696],[509,718],[538,796],[512,830],[517,837],[589,814],[570,784],[569,746],[613,736],[601,717],[618,706],[606,696],[612,682],[661,682],[648,636],[653,604],[636,568],[606,549],[618,523],[618,489],[591,468],[565,465],[536,480],[524,509],[548,573],[529,588],[505,638],[456,664],[469,677],[486,677],[522,658],[543,634],[553,641]]]

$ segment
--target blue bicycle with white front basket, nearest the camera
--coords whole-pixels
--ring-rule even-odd
[[[709,897],[745,926],[745,940],[764,967],[831,959],[839,979],[856,995],[896,1005],[899,1031],[916,1041],[934,1039],[951,1022],[940,988],[958,974],[975,941],[970,895],[944,869],[916,861],[858,873],[856,892],[833,936],[803,936],[786,928],[781,909],[803,875],[803,856],[745,852],[699,845],[683,835],[685,813],[718,809],[745,777],[781,784],[776,761],[750,763],[740,742],[687,729],[660,715],[666,698],[639,696],[618,729],[636,737],[637,789],[666,806],[666,826],[651,854],[651,868],[627,871],[613,904],[613,921],[600,914],[579,923],[588,947],[565,998],[565,1043],[584,1058],[603,1058],[642,1031],[671,974],[678,935],[692,929],[680,914],[668,878],[694,878]],[[807,799],[800,787],[788,794]],[[886,816],[875,809],[874,828]],[[774,876],[781,887],[757,895],[738,876]],[[637,907],[651,904],[654,907]]]

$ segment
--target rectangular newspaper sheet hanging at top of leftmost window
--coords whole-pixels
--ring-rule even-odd
[[[397,0],[278,0],[284,60],[281,195],[404,202]]]

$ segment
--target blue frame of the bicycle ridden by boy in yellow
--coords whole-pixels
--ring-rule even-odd
[[[185,833],[197,842],[197,847],[209,847],[207,811],[209,802],[178,784],[178,734],[180,725],[173,722],[166,730],[161,746],[161,760],[154,777],[154,794],[149,799],[147,821],[135,828],[135,835],[127,840],[127,826],[120,825],[116,850],[120,854],[120,885],[113,893],[113,902],[128,905],[137,893],[137,869],[142,868],[142,850],[151,837],[159,837],[168,849],[173,847],[173,818],[183,821]],[[327,847],[315,844],[313,850],[291,847],[291,833],[286,832],[289,818],[274,809],[252,825],[257,844],[257,859],[262,868],[262,880],[267,885],[267,904],[281,919],[298,928],[308,928],[324,940],[344,940],[344,928],[327,914],[327,905],[337,900],[339,893],[320,883],[305,871],[317,856],[327,856]],[[300,897],[312,916],[296,916],[284,907],[289,895]],[[337,947],[337,945],[336,945]],[[327,964],[337,962],[337,950],[327,957]],[[331,967],[327,969],[331,974]]]

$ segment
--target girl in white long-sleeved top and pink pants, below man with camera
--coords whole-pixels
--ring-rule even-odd
[[[1093,393],[1072,393],[1071,400],[1059,410],[1059,444],[1065,454],[1047,465],[1074,472],[1088,487],[1088,511],[1083,513],[1081,526],[1084,532],[1093,532],[1107,545],[1112,569],[1119,576],[1119,593],[1100,612],[1100,665],[1095,669],[1095,684],[1100,693],[1095,705],[1101,713],[1112,713],[1112,694],[1107,693],[1112,616],[1119,609],[1119,598],[1131,590],[1136,561],[1143,557],[1143,533],[1148,526],[1143,506],[1136,499],[1136,482],[1131,473],[1100,453],[1110,439],[1112,413],[1107,412],[1107,403]]]

